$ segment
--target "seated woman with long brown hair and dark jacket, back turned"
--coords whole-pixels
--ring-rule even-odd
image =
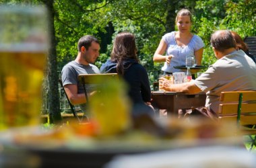
[[[110,60],[100,73],[118,73],[128,84],[129,97],[133,102],[133,115],[147,113],[154,116],[151,106],[151,89],[148,73],[137,58],[135,36],[129,32],[117,34]]]

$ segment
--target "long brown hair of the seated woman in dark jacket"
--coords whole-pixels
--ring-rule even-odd
[[[135,44],[135,36],[129,32],[121,32],[117,34],[113,50],[111,52],[111,60],[117,61],[117,73],[123,75],[123,61],[125,58],[133,58],[137,62],[137,48]]]

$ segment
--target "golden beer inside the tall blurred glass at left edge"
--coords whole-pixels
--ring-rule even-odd
[[[0,129],[39,123],[45,60],[42,52],[0,52]]]

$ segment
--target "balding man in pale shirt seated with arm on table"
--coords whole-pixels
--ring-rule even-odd
[[[219,30],[212,34],[212,48],[218,60],[194,81],[170,85],[162,80],[162,88],[167,91],[181,91],[207,95],[205,107],[218,113],[220,93],[222,91],[256,90],[256,65],[243,52],[236,50],[236,42],[228,30]]]

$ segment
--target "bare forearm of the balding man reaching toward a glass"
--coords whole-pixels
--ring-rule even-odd
[[[191,94],[201,92],[201,89],[197,87],[197,85],[195,85],[193,81],[181,84],[170,84],[167,79],[160,78],[160,83],[162,83],[162,85],[160,85],[160,88],[166,91],[177,91]]]

